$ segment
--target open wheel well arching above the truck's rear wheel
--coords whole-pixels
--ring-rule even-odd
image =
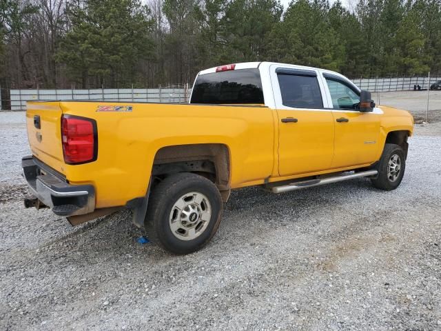
[[[229,197],[229,150],[220,143],[166,146],[156,152],[152,185],[170,174],[193,172],[216,184],[224,201]]]

